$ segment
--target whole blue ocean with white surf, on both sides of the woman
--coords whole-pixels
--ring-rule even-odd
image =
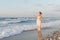
[[[42,29],[60,29],[59,17],[44,17],[44,20]],[[0,39],[34,29],[36,29],[35,17],[0,17]]]

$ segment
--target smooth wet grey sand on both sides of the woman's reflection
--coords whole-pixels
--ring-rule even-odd
[[[52,35],[52,33],[54,31],[57,31],[58,29],[42,29],[41,33],[43,37],[48,37],[48,35]],[[9,37],[5,37],[3,39],[0,40],[37,40],[38,36],[37,36],[37,31],[36,30],[29,30],[29,31],[24,31],[21,34],[16,34],[16,35],[12,35]]]

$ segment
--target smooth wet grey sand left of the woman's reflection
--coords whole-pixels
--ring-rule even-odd
[[[26,31],[26,32],[23,32],[22,34],[5,37],[0,40],[37,40],[37,32],[36,30]]]

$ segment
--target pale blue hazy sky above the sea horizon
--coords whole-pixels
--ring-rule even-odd
[[[0,17],[35,16],[38,11],[47,17],[60,17],[60,0],[0,0]]]

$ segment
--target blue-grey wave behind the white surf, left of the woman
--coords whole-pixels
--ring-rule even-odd
[[[22,23],[27,21],[34,21],[35,19],[6,19],[4,21],[0,21],[0,24],[6,25],[6,24],[15,24],[15,23]]]

